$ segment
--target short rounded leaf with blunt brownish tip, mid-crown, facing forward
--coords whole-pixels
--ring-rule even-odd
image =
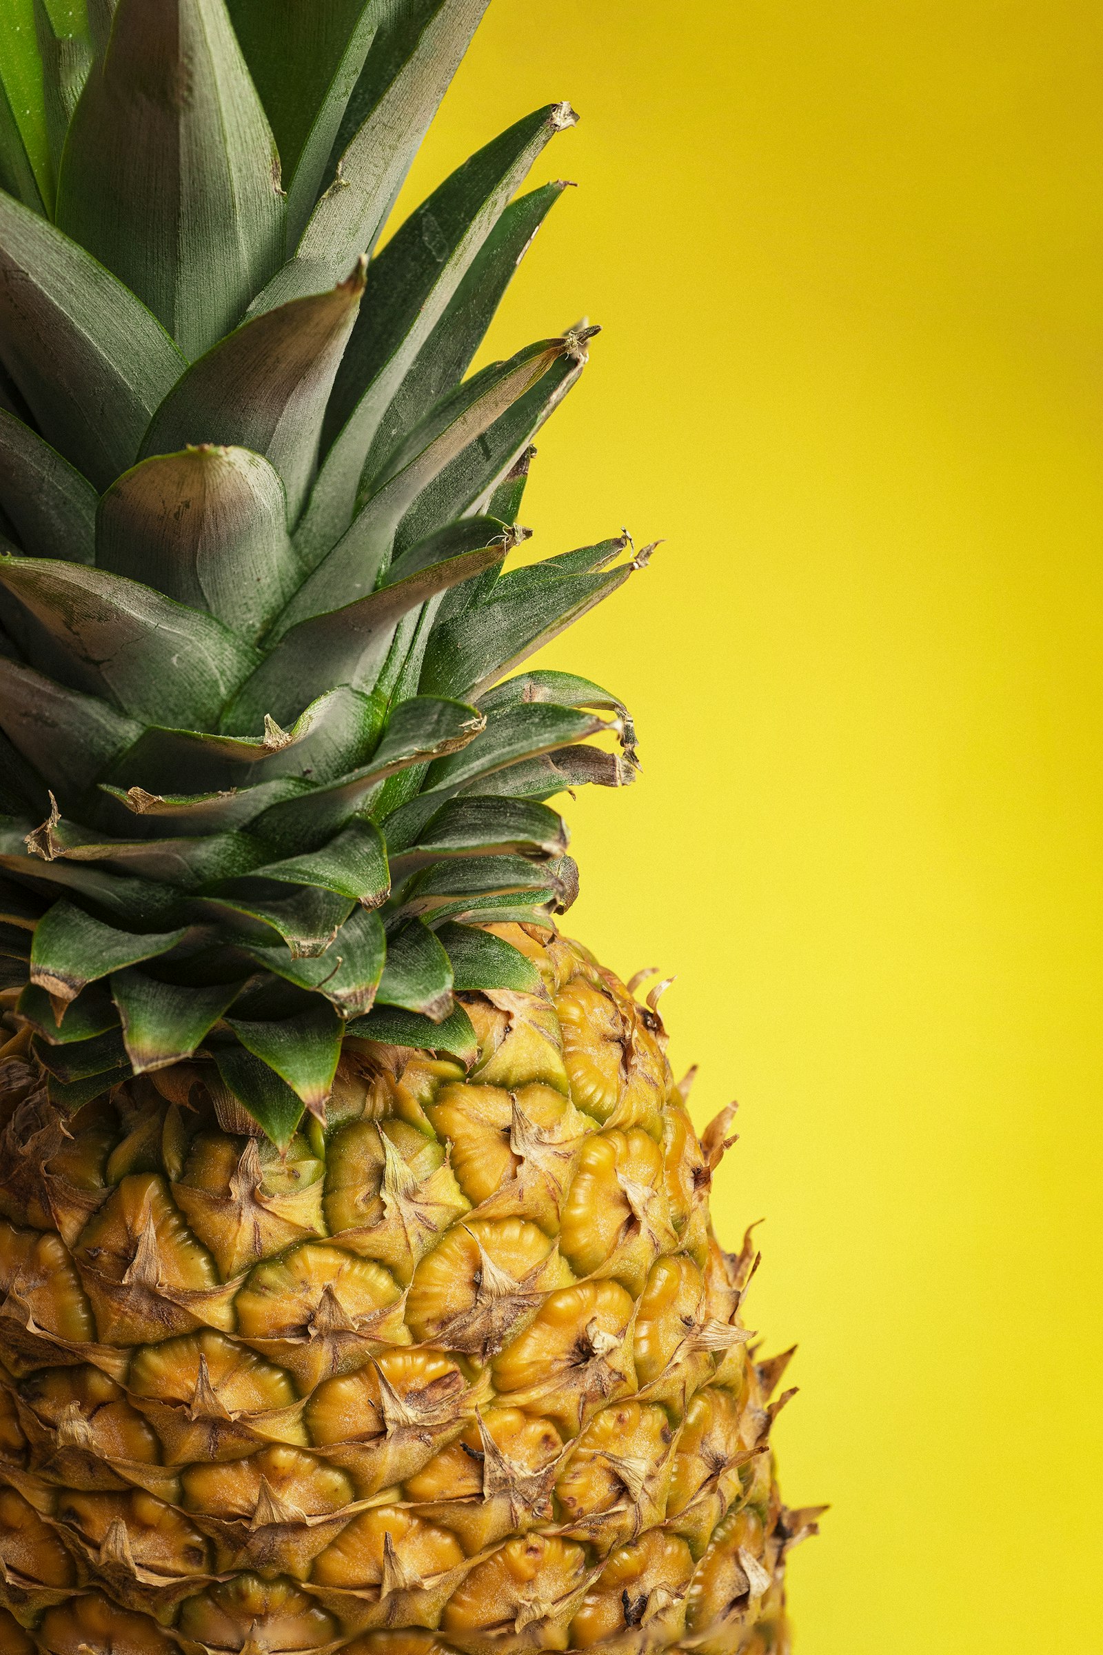
[[[255,639],[296,591],[279,475],[212,444],[126,472],[99,505],[96,563]]]

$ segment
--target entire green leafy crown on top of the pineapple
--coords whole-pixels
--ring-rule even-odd
[[[346,1034],[470,1059],[455,993],[539,988],[485,927],[635,771],[508,677],[647,561],[503,568],[597,329],[465,377],[575,116],[377,252],[486,0],[86,3],[0,22],[0,991],[60,1107],[197,1059],[286,1144]]]

